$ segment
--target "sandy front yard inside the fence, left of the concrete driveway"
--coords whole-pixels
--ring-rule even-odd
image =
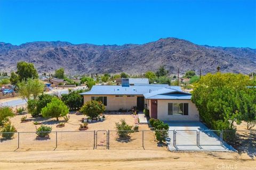
[[[28,122],[21,123],[22,116],[28,117]],[[135,125],[133,115],[106,115],[103,122],[89,123],[89,129],[79,131],[79,124],[84,115],[69,114],[70,119],[65,123],[65,127],[57,128],[56,125],[63,122],[55,121],[55,118],[32,118],[26,115],[17,115],[11,119],[19,133],[19,151],[28,150],[69,150],[69,149],[93,149],[94,141],[97,149],[107,148],[107,133],[109,131],[109,148],[111,149],[155,149],[166,150],[162,145],[158,146],[155,141],[154,133],[150,131],[148,125],[140,124],[139,130],[147,130],[145,132],[134,132],[131,134],[129,141],[118,140],[115,131],[115,123],[124,119],[127,124]],[[44,125],[52,127],[52,133],[49,139],[37,139],[35,134],[36,128],[40,125],[34,125],[34,122],[40,122]],[[58,131],[57,133],[55,131]],[[71,131],[71,132],[70,132]],[[95,131],[95,132],[94,132]],[[97,134],[94,138],[94,133]],[[143,134],[142,134],[143,133]],[[142,141],[142,135],[144,140]],[[142,142],[144,148],[142,147]],[[56,147],[57,143],[57,147]],[[14,134],[12,140],[3,140],[0,142],[1,151],[13,151],[18,148],[18,133]]]

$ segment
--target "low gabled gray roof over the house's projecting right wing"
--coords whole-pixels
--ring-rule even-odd
[[[190,100],[191,94],[181,90],[173,89],[170,87],[164,87],[152,92],[148,92],[143,95],[146,99],[178,99],[178,100]]]

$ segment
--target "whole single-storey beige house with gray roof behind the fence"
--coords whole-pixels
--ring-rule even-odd
[[[167,84],[140,84],[134,86],[93,86],[83,92],[84,103],[100,100],[107,111],[149,109],[150,117],[163,121],[199,121],[191,94],[183,92],[178,86]]]

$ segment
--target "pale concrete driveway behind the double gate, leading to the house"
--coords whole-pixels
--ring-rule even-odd
[[[167,142],[170,150],[235,151],[233,147],[221,141],[220,131],[211,131],[201,122],[165,123],[169,124]]]

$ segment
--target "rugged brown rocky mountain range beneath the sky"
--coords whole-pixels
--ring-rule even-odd
[[[61,41],[39,41],[19,46],[0,43],[0,71],[15,71],[19,61],[32,62],[39,73],[64,67],[67,73],[144,73],[165,65],[170,73],[202,69],[203,73],[250,73],[256,71],[256,49],[210,47],[166,38],[133,45],[74,45]]]

